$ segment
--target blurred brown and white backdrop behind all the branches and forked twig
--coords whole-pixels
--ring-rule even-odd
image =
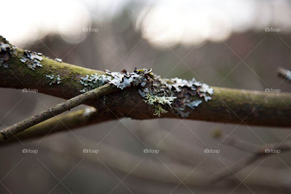
[[[1,15],[0,34],[13,45],[70,64],[129,72],[153,68],[165,78],[291,92],[290,83],[276,73],[279,66],[291,69],[288,0],[1,1]],[[63,101],[0,90],[2,127]],[[216,185],[195,183],[199,173],[210,176],[250,156],[213,139],[215,126],[256,145],[291,140],[290,130],[274,127],[187,119],[103,122],[1,147],[0,193],[291,192],[290,152],[242,169],[241,180],[232,175]]]

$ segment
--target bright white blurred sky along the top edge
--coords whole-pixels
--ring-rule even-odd
[[[91,26],[92,18],[111,20],[122,8],[132,15],[136,30],[160,49],[207,40],[220,42],[233,32],[250,29],[280,28],[280,33],[291,30],[291,5],[283,0],[157,0],[143,4],[142,9],[134,9],[128,0],[2,1],[1,15],[7,22],[0,26],[0,34],[15,45],[41,39],[48,33],[77,43],[88,35],[83,29]]]

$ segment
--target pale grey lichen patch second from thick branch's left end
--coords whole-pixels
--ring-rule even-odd
[[[34,70],[36,67],[42,67],[40,63],[42,61],[42,53],[25,50],[23,54],[25,56],[20,61],[27,65],[29,69]]]

